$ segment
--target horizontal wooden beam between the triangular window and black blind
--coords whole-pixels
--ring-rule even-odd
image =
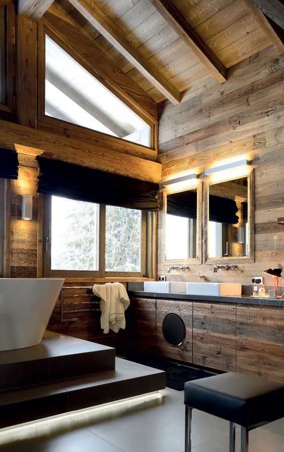
[[[128,144],[131,147],[131,143]],[[159,183],[161,180],[160,163],[89,143],[82,144],[80,140],[53,135],[8,121],[0,120],[0,147],[16,149],[17,152],[30,156],[43,155],[143,181]]]

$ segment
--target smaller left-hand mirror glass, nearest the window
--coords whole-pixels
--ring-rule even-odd
[[[166,260],[198,258],[200,189],[194,187],[166,196]]]

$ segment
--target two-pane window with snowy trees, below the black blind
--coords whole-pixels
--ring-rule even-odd
[[[140,210],[46,196],[45,216],[45,276],[145,272]]]

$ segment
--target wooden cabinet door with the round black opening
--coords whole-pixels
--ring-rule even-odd
[[[164,337],[163,321],[169,314],[175,314],[179,324],[184,324],[185,334],[182,344],[173,346]],[[180,320],[181,319],[181,320]],[[168,318],[169,324],[171,317]],[[164,323],[164,327],[165,327]],[[175,328],[175,321],[173,322]],[[192,303],[178,300],[157,300],[157,355],[187,363],[192,362]],[[165,329],[164,329],[165,332]]]

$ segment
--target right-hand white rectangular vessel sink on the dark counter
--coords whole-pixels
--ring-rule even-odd
[[[240,283],[186,283],[188,295],[211,295],[219,297],[240,297]]]

